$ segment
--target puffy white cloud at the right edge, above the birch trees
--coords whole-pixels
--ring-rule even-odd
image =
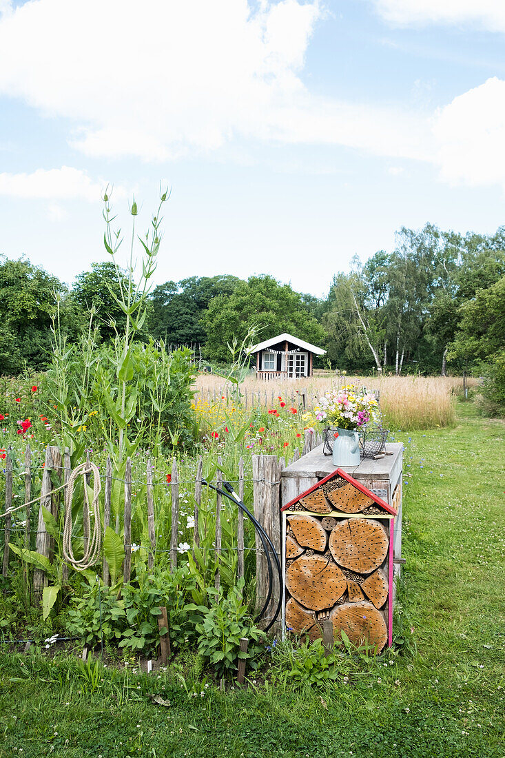
[[[454,98],[433,128],[442,179],[505,188],[505,81],[492,77]]]

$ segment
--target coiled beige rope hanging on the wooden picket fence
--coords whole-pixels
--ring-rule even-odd
[[[89,493],[86,484],[86,476],[93,474],[93,500],[89,505]],[[83,477],[83,530],[89,534],[87,545],[85,545],[84,555],[76,560],[72,550],[72,496],[74,495],[74,484],[78,476]],[[102,525],[100,522],[99,493],[102,490],[100,481],[100,471],[97,465],[92,462],[80,463],[74,468],[68,481],[67,490],[65,490],[65,524],[63,529],[63,557],[77,571],[84,571],[94,565],[99,558],[100,548],[102,547]],[[91,531],[91,519],[93,515],[93,532]]]

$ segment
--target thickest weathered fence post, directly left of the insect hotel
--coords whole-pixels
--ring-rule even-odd
[[[280,467],[276,456],[252,456],[254,515],[281,555]],[[268,593],[268,567],[259,534],[256,532],[256,606],[260,609]],[[274,572],[271,603],[265,619],[271,618],[278,603],[279,581]]]

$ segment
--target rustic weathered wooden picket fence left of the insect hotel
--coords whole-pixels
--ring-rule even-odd
[[[304,435],[303,453],[308,453],[312,447],[320,444],[322,437],[318,434],[312,434],[310,430],[306,430]],[[268,536],[271,538],[274,544],[275,550],[278,555],[281,554],[281,528],[280,528],[280,484],[281,484],[281,471],[286,465],[300,458],[300,452],[296,449],[294,456],[290,461],[286,462],[284,459],[278,459],[277,456],[252,456],[252,480],[246,479],[244,475],[244,462],[240,459],[238,479],[234,482],[237,488],[237,493],[240,499],[243,500],[244,496],[244,484],[245,482],[252,481],[253,485],[253,512],[256,519],[265,528]],[[89,453],[86,454],[87,462],[90,462]],[[27,445],[24,452],[24,471],[22,476],[24,477],[24,503],[17,506],[13,505],[13,456],[12,449],[7,451],[7,457],[5,459],[5,509],[3,514],[0,513],[0,529],[4,528],[4,555],[2,563],[2,575],[6,577],[9,570],[10,549],[9,542],[11,542],[12,531],[12,515],[14,513],[22,513],[24,517],[24,547],[29,548],[32,540],[30,534],[31,522],[32,522],[32,509],[38,507],[38,503],[41,503],[52,515],[58,519],[59,511],[64,507],[63,491],[64,487],[71,477],[71,457],[68,449],[61,453],[61,449],[55,446],[48,446],[45,452],[45,462],[43,465],[42,485],[40,496],[33,498],[32,493],[32,452],[30,446]],[[190,485],[194,493],[194,531],[193,540],[196,547],[199,547],[200,532],[199,532],[199,509],[202,503],[202,471],[203,471],[203,459],[199,457],[196,466],[196,477],[191,482],[181,482],[179,478],[179,472],[177,468],[177,461],[174,459],[171,468],[171,481],[169,484],[165,482],[153,481],[153,467],[152,462],[148,460],[146,465],[146,479],[141,484],[146,486],[146,508],[147,508],[147,526],[149,534],[149,545],[143,546],[148,550],[148,568],[152,570],[155,565],[155,555],[158,552],[156,547],[156,524],[155,524],[155,497],[154,487],[163,486],[170,490],[171,495],[171,533],[170,533],[170,547],[168,550],[171,570],[177,567],[177,541],[180,528],[180,485],[185,487]],[[53,479],[61,482],[61,485],[55,487]],[[111,493],[112,493],[112,463],[111,458],[108,456],[105,475],[100,475],[102,490],[103,490],[103,524],[102,528],[105,529],[112,526],[115,531],[119,532],[119,519],[116,519],[115,525],[111,525]],[[116,480],[117,481],[117,480]],[[124,581],[130,581],[131,575],[131,516],[132,516],[132,485],[138,486],[138,481],[133,483],[131,460],[127,459],[124,479],[121,479],[122,486],[124,488],[124,512],[123,512],[123,527],[124,527],[124,564],[123,564],[123,576]],[[213,482],[218,487],[222,485],[222,474],[218,470],[216,480]],[[215,587],[218,588],[221,582],[221,576],[219,571],[219,556],[223,550],[221,541],[221,509],[222,500],[221,495],[215,496],[215,557],[217,559],[218,569],[215,573]],[[37,530],[36,530],[36,551],[42,556],[45,556],[52,562],[55,552],[55,540],[48,533],[45,527],[45,521],[42,515],[42,508],[38,510],[37,518]],[[18,530],[19,531],[19,530]],[[86,529],[86,520],[83,519],[83,547],[86,550],[89,540],[89,533]],[[237,516],[237,578],[241,578],[244,575],[245,564],[245,548],[244,548],[244,522],[243,512],[238,509]],[[253,548],[256,553],[256,603],[257,606],[262,606],[268,587],[268,571],[267,571],[267,559],[262,548],[262,543],[259,535],[256,533],[256,547]],[[166,551],[163,551],[166,552]],[[110,584],[110,572],[105,556],[102,559],[102,573],[103,583]],[[63,580],[66,581],[68,577],[68,565],[63,565]],[[42,592],[44,584],[47,582],[45,572],[40,569],[35,569],[33,572],[33,589],[37,592]],[[274,587],[272,597],[277,597],[278,587]],[[274,607],[274,601],[271,602],[271,607]],[[270,612],[267,611],[265,619],[268,618]]]

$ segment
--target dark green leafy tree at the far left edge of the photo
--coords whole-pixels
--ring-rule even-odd
[[[58,277],[27,260],[0,258],[0,365],[2,373],[45,368],[52,353],[52,317],[62,296],[64,328],[74,328],[67,289]]]

